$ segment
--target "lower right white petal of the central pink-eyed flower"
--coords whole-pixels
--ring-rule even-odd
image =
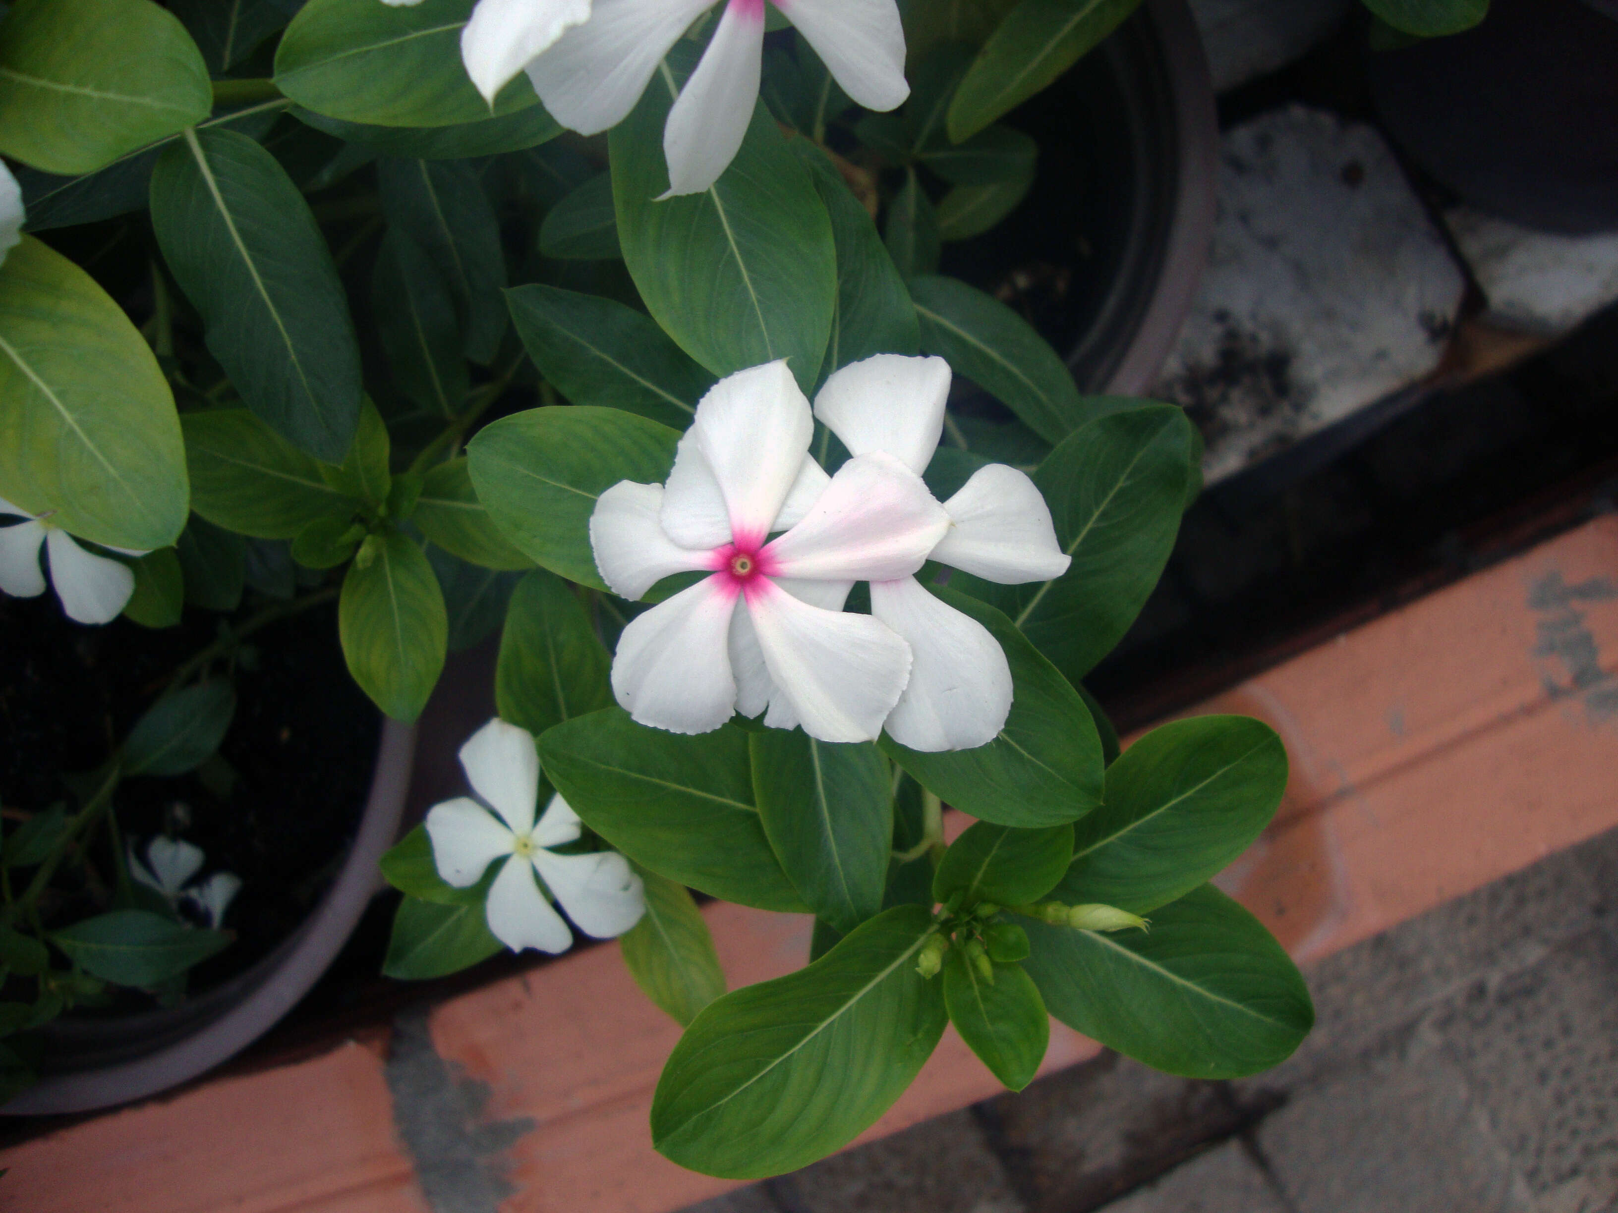
[[[770,581],[748,600],[777,692],[820,741],[872,741],[909,678],[911,653],[869,615],[825,611]]]

